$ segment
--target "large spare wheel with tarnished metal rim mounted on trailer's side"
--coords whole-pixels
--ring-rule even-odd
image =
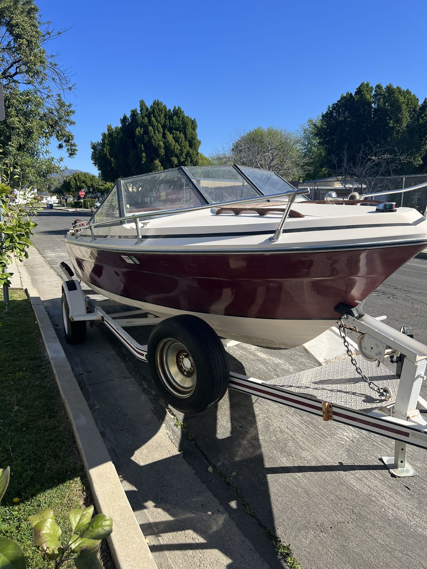
[[[147,359],[162,397],[182,413],[200,413],[223,398],[229,370],[221,340],[204,320],[182,315],[151,332]]]

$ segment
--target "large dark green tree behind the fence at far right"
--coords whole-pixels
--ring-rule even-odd
[[[305,127],[306,153],[314,150],[312,174],[368,169],[404,174],[427,167],[427,98],[391,84],[361,83]],[[356,166],[358,164],[358,166]]]

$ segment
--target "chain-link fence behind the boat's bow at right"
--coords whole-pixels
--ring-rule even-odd
[[[397,189],[410,188],[414,185],[427,184],[427,174],[409,174],[405,176],[377,176],[376,178],[343,179],[324,178],[299,182],[299,188],[310,188],[310,199],[322,200],[327,192],[334,191],[338,197],[346,197],[351,192],[377,193]],[[378,196],[380,200],[395,201],[397,207],[417,209],[421,215],[427,210],[427,185],[423,188],[413,189],[409,192],[387,193]]]

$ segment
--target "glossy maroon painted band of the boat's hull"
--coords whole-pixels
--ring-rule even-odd
[[[291,320],[337,319],[337,304],[355,306],[424,246],[171,254],[67,243],[77,273],[114,295],[184,312]]]

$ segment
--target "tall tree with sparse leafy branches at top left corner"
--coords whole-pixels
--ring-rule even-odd
[[[69,157],[77,149],[70,130],[74,110],[66,99],[74,85],[69,69],[61,67],[59,53],[50,48],[65,31],[43,22],[34,0],[0,3],[0,81],[6,116],[0,123],[0,145],[19,166],[22,183],[39,189],[59,169],[49,150],[52,140]]]

